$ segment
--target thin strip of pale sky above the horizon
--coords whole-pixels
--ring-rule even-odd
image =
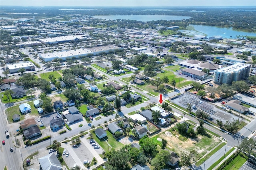
[[[255,6],[256,0],[1,0],[1,6]]]

